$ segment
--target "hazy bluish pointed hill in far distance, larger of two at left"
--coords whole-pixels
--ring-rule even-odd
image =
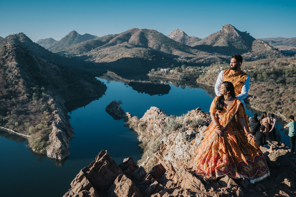
[[[71,31],[68,33],[64,38],[62,38],[60,41],[57,41],[56,43],[47,46],[46,49],[49,51],[54,51],[62,48],[67,48],[69,46],[75,45],[77,43],[81,43],[83,41],[91,40],[98,38],[96,35],[90,35],[88,33],[84,35],[80,35],[76,31]]]

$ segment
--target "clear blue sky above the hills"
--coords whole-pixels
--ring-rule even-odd
[[[1,2],[2,1],[2,2]],[[0,36],[25,33],[36,42],[70,31],[103,36],[131,28],[174,29],[205,38],[231,24],[254,38],[296,37],[296,1],[9,0],[0,1]]]

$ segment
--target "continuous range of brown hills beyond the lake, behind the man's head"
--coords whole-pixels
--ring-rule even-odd
[[[282,56],[278,49],[265,41],[256,40],[229,24],[204,39],[188,36],[179,29],[165,36],[156,30],[133,28],[120,34],[50,50],[92,63],[105,63],[105,69],[113,68],[115,73],[116,70],[147,72],[152,68],[180,64],[207,66],[215,62],[229,62],[232,54],[242,54],[247,61]]]

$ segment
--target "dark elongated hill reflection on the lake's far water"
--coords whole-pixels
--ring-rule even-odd
[[[150,96],[153,95],[165,95],[168,94],[170,91],[170,85],[168,84],[161,84],[161,83],[146,83],[146,82],[135,82],[131,81],[128,83],[129,86],[133,88],[133,90],[149,94]]]

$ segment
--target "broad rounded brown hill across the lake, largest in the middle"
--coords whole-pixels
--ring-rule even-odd
[[[53,51],[66,56],[76,56],[106,69],[148,72],[157,67],[202,64],[226,61],[227,56],[210,54],[174,41],[156,30],[133,28],[126,32],[106,35],[85,41],[66,49]]]

